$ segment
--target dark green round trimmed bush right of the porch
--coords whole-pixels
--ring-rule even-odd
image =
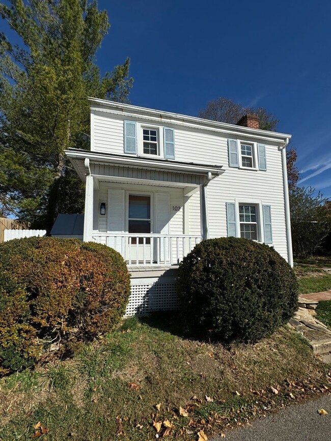
[[[248,239],[209,239],[179,266],[178,292],[190,333],[256,342],[297,309],[297,280],[272,247]]]

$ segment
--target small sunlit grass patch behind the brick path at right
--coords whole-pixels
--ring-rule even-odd
[[[327,274],[320,268],[300,264],[294,267],[294,272],[298,277],[300,294],[331,289],[331,274]]]

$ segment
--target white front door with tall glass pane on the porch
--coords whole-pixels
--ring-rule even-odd
[[[136,238],[137,234],[151,233],[151,196],[129,194],[128,232],[133,233],[128,241],[128,253],[131,261],[136,263],[151,262],[150,238]]]

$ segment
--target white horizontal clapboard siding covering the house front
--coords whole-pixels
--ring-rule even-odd
[[[123,127],[124,119],[128,117],[111,115],[109,113],[94,112],[92,118],[92,145],[91,150],[124,154]],[[132,117],[132,119],[134,119]],[[136,121],[140,121],[136,117]],[[151,124],[152,124],[151,119]],[[156,124],[154,122],[154,124]],[[195,129],[165,123],[167,127],[175,130],[175,154],[176,161],[195,162],[203,164],[223,165],[225,172],[208,184],[208,213],[209,235],[211,238],[227,236],[226,202],[249,202],[258,200],[262,204],[271,205],[272,237],[274,248],[284,257],[288,258],[285,202],[282,171],[282,154],[278,145],[265,142],[267,170],[245,170],[230,168],[228,166],[228,137],[224,134],[210,130]],[[161,128],[162,126],[160,126]],[[235,136],[232,134],[232,139]],[[238,139],[247,142],[263,142],[254,139],[253,136],[240,135]],[[106,201],[104,193],[106,186],[111,184],[100,183],[100,202]],[[160,187],[142,187],[143,191],[163,191]],[[124,188],[124,186],[123,186]],[[132,188],[132,186],[131,186]],[[170,233],[183,232],[183,196],[181,189],[167,188],[164,191],[170,194]],[[173,205],[180,205],[178,212],[173,212]],[[190,234],[200,234],[200,194],[194,194],[189,199],[189,231]],[[99,216],[100,231],[105,230],[105,216]]]

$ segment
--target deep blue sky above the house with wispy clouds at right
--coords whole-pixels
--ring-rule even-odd
[[[129,56],[131,104],[198,115],[226,97],[292,134],[301,183],[331,198],[331,2],[99,0],[102,72]]]

